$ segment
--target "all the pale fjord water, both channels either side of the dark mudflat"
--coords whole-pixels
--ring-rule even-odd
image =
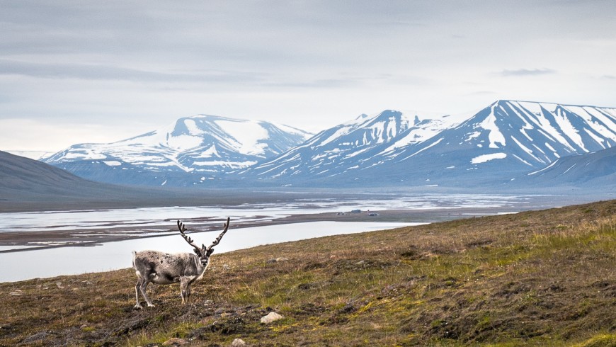
[[[241,222],[267,223],[289,215],[323,212],[336,215],[336,212],[348,212],[355,209],[429,212],[435,209],[454,211],[461,208],[498,207],[500,212],[516,212],[543,207],[544,204],[544,201],[537,203],[536,197],[528,195],[395,194],[385,198],[380,195],[378,198],[364,200],[300,199],[292,203],[252,204],[233,208],[228,206],[143,207],[118,210],[0,213],[0,232],[52,233],[59,230],[79,229],[81,232],[92,230],[93,232],[113,232],[139,237],[126,241],[106,242],[97,246],[62,246],[31,250],[28,250],[28,246],[4,245],[0,251],[9,249],[21,249],[21,251],[0,252],[0,263],[2,264],[0,282],[128,268],[132,266],[133,250],[159,249],[169,253],[190,251],[186,242],[173,230],[175,220],[212,217],[212,220],[205,224],[210,223],[212,226],[222,228],[223,218],[231,217],[232,224],[229,232],[221,244],[216,247],[216,252],[220,253],[260,244],[420,224],[412,220],[391,220],[388,222],[304,222],[238,228]],[[433,221],[422,220],[421,222]],[[191,236],[198,243],[208,244],[217,236],[217,230],[215,228],[215,232],[193,233]],[[154,235],[156,237],[152,237]],[[30,246],[50,245],[57,246],[62,243],[30,244]],[[275,257],[275,254],[272,256]]]

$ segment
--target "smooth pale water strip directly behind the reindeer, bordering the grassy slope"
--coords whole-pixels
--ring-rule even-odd
[[[411,223],[413,224],[413,223]],[[420,224],[420,223],[414,223]],[[261,244],[275,244],[334,234],[352,234],[380,229],[403,227],[409,223],[384,222],[308,222],[279,224],[264,227],[229,229],[215,253],[246,249]],[[209,244],[217,232],[190,234],[196,242]],[[67,246],[33,251],[0,254],[0,282],[13,282],[30,278],[74,275],[117,270],[132,266],[132,251],[159,249],[169,253],[190,251],[186,241],[173,234],[127,241],[115,241],[100,246]],[[276,255],[272,254],[275,258]],[[222,266],[212,262],[212,266]]]

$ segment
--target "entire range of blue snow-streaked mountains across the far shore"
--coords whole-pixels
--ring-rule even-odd
[[[496,101],[460,117],[385,110],[308,137],[199,115],[113,144],[74,145],[44,161],[94,181],[151,186],[532,186],[539,178],[527,174],[541,172],[535,177],[547,182],[566,165],[554,184],[577,175],[571,182],[616,186],[605,174],[613,169],[616,108]]]

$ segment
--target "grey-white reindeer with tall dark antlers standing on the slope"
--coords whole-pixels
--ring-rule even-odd
[[[205,244],[202,244],[201,247],[195,245],[193,239],[184,234],[186,227],[179,220],[178,229],[180,229],[180,234],[186,242],[193,246],[195,254],[166,254],[160,251],[132,252],[132,267],[135,268],[135,273],[137,273],[137,278],[139,278],[137,285],[135,285],[135,297],[137,298],[135,309],[142,308],[139,303],[139,292],[143,295],[148,307],[154,307],[145,292],[145,288],[150,282],[157,285],[179,282],[182,303],[188,302],[190,298],[190,285],[195,280],[200,280],[203,277],[203,273],[205,273],[205,269],[210,263],[210,256],[214,252],[214,246],[220,242],[224,233],[229,229],[229,218],[227,218],[227,223],[224,224],[222,233],[207,247]]]

